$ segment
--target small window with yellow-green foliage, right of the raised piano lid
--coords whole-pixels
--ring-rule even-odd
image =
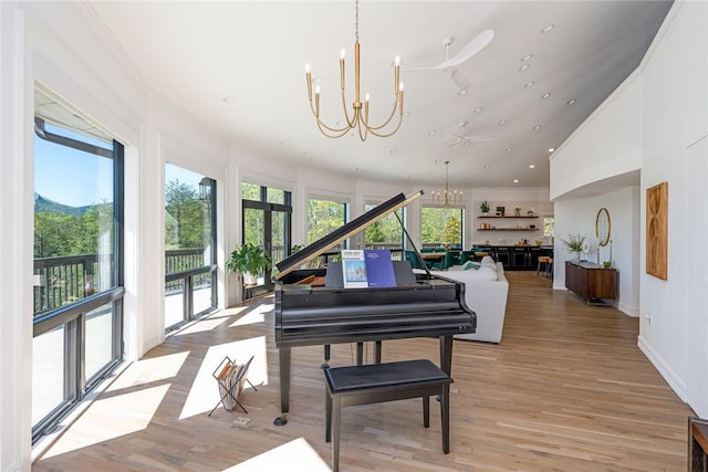
[[[462,249],[465,210],[461,208],[423,207],[420,235],[424,248],[449,245]]]

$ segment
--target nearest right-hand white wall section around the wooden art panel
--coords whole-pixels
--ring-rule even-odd
[[[639,346],[701,417],[708,417],[707,24],[708,3],[675,6],[643,71],[642,208],[646,189],[668,181],[668,280],[642,271]]]

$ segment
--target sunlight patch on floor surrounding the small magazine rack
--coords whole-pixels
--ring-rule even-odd
[[[199,371],[195,376],[191,388],[189,389],[189,395],[187,396],[187,401],[185,401],[185,406],[179,415],[179,419],[207,413],[219,402],[219,387],[217,380],[214,378],[214,371],[217,369],[221,360],[223,360],[225,356],[229,356],[231,360],[239,364],[246,363],[251,356],[254,356],[246,377],[257,388],[259,385],[268,384],[268,354],[266,336],[258,336],[249,339],[211,346],[205,354],[201,367],[199,367]],[[250,392],[252,392],[252,388],[248,382],[244,384],[243,391],[247,396],[251,395]],[[252,395],[258,395],[258,392],[253,392]],[[244,401],[246,403],[248,402],[248,400]]]

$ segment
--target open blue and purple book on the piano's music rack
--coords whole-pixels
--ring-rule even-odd
[[[386,249],[343,250],[342,275],[345,289],[396,285],[391,251]]]

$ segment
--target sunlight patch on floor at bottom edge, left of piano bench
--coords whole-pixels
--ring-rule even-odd
[[[271,449],[246,462],[225,469],[222,472],[262,472],[275,470],[299,470],[308,472],[331,471],[326,462],[317,454],[304,438]]]

